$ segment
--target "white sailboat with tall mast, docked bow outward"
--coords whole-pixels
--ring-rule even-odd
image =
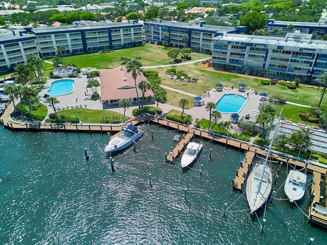
[[[278,122],[273,131],[266,158],[262,163],[256,163],[254,165],[246,182],[246,198],[251,214],[262,207],[262,205],[267,201],[272,189],[272,171],[271,167],[268,165],[268,159],[273,139],[279,125],[279,120],[281,120],[282,112],[283,109],[279,114]]]

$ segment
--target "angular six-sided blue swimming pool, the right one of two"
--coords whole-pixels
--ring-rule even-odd
[[[238,113],[246,101],[246,97],[239,94],[224,94],[216,102],[216,110],[223,113]]]

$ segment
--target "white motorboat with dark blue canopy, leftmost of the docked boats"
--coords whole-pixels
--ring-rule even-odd
[[[128,125],[114,138],[109,139],[105,145],[105,152],[116,152],[127,148],[133,141],[141,138],[143,131],[138,130],[135,125]]]

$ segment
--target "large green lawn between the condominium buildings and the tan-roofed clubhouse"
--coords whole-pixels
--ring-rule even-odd
[[[113,50],[108,54],[81,54],[74,56],[64,56],[63,63],[74,62],[78,67],[92,67],[98,69],[114,68],[121,64],[120,57],[124,56],[133,59],[137,56],[141,57],[143,66],[151,65],[166,65],[172,62],[167,56],[168,50],[164,50],[162,46],[142,45],[137,47],[122,48],[120,50]],[[191,53],[193,60],[209,57],[208,55],[200,53]],[[51,61],[51,59],[49,60]]]

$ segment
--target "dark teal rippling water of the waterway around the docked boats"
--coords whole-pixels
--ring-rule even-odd
[[[287,201],[267,207],[263,233],[255,215],[240,211],[248,209],[246,195],[230,184],[242,152],[205,141],[201,177],[198,163],[182,171],[179,161],[164,161],[176,132],[143,129],[136,153],[131,147],[113,157],[115,173],[103,151],[106,134],[1,129],[0,244],[308,244],[310,237],[325,244],[325,230]],[[274,190],[286,168],[279,175]],[[285,198],[283,188],[277,193]],[[225,202],[235,204],[223,216]],[[308,197],[299,207],[308,214]]]

